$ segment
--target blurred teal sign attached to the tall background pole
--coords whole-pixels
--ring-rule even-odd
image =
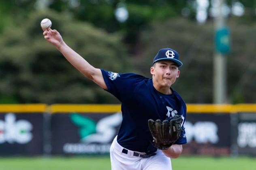
[[[230,52],[230,33],[227,27],[218,29],[215,33],[215,47],[220,53]]]

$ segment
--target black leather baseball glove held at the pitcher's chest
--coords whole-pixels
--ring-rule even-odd
[[[153,146],[161,150],[171,147],[181,135],[181,122],[181,115],[173,116],[171,121],[149,119],[148,127],[154,139]]]

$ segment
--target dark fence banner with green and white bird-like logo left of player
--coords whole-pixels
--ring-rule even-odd
[[[109,154],[122,113],[54,113],[52,154]]]

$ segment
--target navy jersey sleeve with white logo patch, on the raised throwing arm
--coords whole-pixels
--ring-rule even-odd
[[[145,78],[134,73],[114,73],[104,69],[101,69],[101,72],[107,85],[105,90],[121,102],[129,99],[136,85]]]

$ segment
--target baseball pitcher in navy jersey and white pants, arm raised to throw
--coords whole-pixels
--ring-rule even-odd
[[[170,157],[179,157],[186,143],[186,104],[171,88],[182,65],[179,54],[160,49],[150,68],[152,78],[145,78],[94,68],[55,29],[43,35],[83,75],[121,101],[123,120],[110,147],[112,170],[170,170]]]

